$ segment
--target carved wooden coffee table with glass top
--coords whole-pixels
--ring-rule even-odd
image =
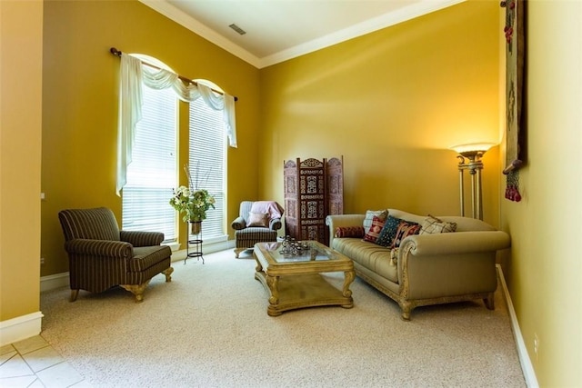
[[[269,295],[266,313],[281,315],[287,310],[306,307],[340,305],[354,306],[349,289],[356,273],[352,260],[316,241],[300,254],[281,254],[281,243],[255,244],[255,279],[265,286]],[[323,273],[343,272],[341,290],[327,282]]]

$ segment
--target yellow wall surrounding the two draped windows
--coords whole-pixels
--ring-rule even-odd
[[[240,201],[257,195],[257,153],[252,146],[259,114],[255,67],[137,1],[46,2],[42,275],[68,270],[57,218],[61,209],[108,206],[121,224],[121,200],[115,195],[120,61],[109,53],[112,46],[125,53],[155,56],[180,75],[208,79],[238,97],[239,147],[228,149],[227,182],[236,190],[229,190],[227,219],[238,214]],[[187,125],[187,105],[180,108],[182,123]],[[187,131],[181,131],[182,184],[186,184],[181,167],[187,162],[187,145]]]

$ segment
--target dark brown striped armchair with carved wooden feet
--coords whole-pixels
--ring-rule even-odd
[[[144,300],[152,277],[172,281],[172,250],[159,232],[120,231],[110,209],[66,209],[58,214],[69,256],[71,302],[79,290],[100,293],[116,285]]]

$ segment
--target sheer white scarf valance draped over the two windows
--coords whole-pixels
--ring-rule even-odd
[[[127,182],[127,165],[131,163],[131,155],[135,141],[135,124],[142,117],[142,85],[152,89],[171,87],[177,97],[190,103],[199,97],[208,106],[217,111],[223,111],[226,124],[228,144],[236,147],[236,114],[235,97],[219,95],[203,84],[184,85],[176,73],[166,69],[155,69],[144,65],[133,55],[121,55],[121,72],[119,80],[119,117],[117,120],[117,183],[115,192],[120,194]]]

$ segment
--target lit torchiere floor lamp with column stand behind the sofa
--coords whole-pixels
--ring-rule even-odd
[[[459,177],[459,194],[461,204],[461,215],[465,216],[465,170],[469,172],[471,178],[471,200],[473,205],[473,218],[483,219],[483,198],[481,189],[481,170],[483,162],[481,158],[489,148],[496,144],[493,143],[475,143],[460,144],[451,147],[457,152],[458,177]]]

